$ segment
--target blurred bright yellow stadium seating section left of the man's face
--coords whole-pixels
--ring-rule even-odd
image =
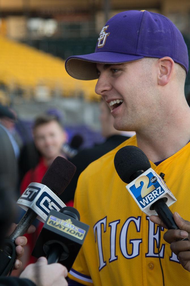
[[[34,88],[43,81],[51,89],[59,84],[64,96],[83,94],[88,100],[99,98],[94,92],[96,81],[71,78],[61,58],[4,37],[0,37],[0,52],[0,81],[7,86],[14,82]]]

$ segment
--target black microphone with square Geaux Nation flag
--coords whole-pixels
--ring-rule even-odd
[[[32,255],[46,256],[48,264],[61,263],[70,271],[85,240],[89,226],[80,222],[78,210],[71,206],[51,210],[36,241]]]

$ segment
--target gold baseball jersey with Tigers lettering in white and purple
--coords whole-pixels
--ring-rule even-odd
[[[74,206],[90,229],[69,277],[88,286],[163,286],[161,237],[165,285],[189,285],[190,273],[163,239],[166,230],[160,231],[140,210],[115,170],[114,156],[127,145],[137,146],[136,136],[91,163],[79,177]],[[177,198],[171,211],[190,221],[190,143],[158,166],[150,163],[165,174]]]

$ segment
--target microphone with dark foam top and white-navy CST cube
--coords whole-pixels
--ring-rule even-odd
[[[7,275],[12,271],[16,258],[15,239],[26,233],[37,216],[45,221],[51,209],[60,210],[65,206],[57,195],[68,186],[75,170],[76,167],[71,162],[58,156],[42,178],[42,184],[31,183],[26,188],[17,203],[28,210],[0,251],[0,275]]]

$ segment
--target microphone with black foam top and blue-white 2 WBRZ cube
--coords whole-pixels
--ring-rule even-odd
[[[176,198],[151,168],[144,152],[136,146],[125,146],[115,154],[114,165],[140,209],[149,216],[157,213],[167,229],[178,229],[168,207]]]

